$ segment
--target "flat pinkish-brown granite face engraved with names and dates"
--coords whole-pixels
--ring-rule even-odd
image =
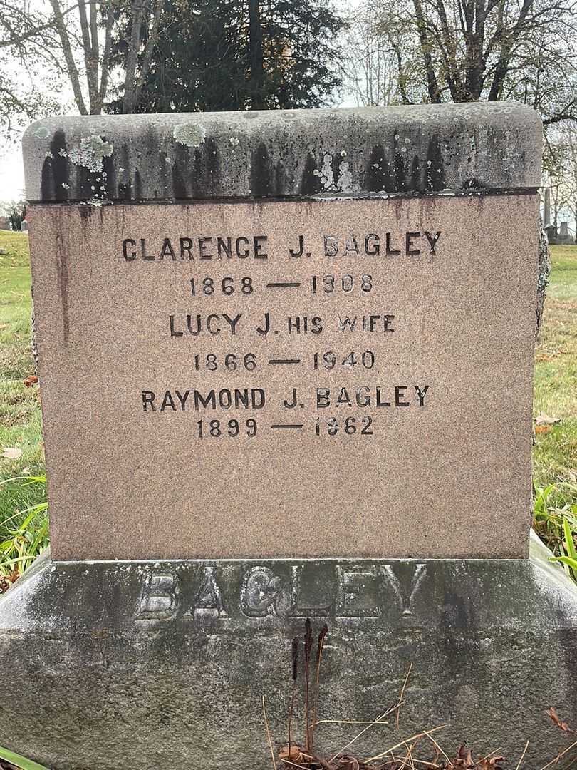
[[[538,206],[32,206],[54,557],[524,557]]]

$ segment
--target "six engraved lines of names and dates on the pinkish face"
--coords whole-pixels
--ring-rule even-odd
[[[166,313],[165,317],[171,339],[194,340],[193,376],[178,387],[175,383],[161,390],[143,387],[142,408],[145,412],[198,413],[201,419],[192,431],[195,438],[253,438],[259,430],[312,430],[318,437],[339,433],[372,436],[379,410],[428,406],[431,383],[424,380],[399,383],[379,377],[386,356],[380,338],[394,335],[403,323],[392,298],[387,299],[384,307],[379,304],[379,273],[386,269],[386,260],[434,259],[441,235],[440,229],[346,236],[322,234],[315,243],[299,234],[294,236],[293,243],[280,247],[272,247],[268,235],[253,234],[165,236],[152,243],[137,234],[123,239],[125,263],[134,266],[141,261],[181,264],[182,294],[188,298],[191,308],[190,312]],[[313,255],[320,256],[320,260],[313,262]],[[351,272],[338,269],[339,258],[355,269]],[[284,269],[283,280],[270,280],[270,273],[258,265],[257,260],[274,262],[278,269]],[[296,260],[305,261],[304,269],[293,267]],[[208,263],[218,264],[218,270],[207,274]],[[246,274],[239,276],[238,263],[249,267],[250,273],[247,269]],[[309,268],[309,264],[313,266]],[[317,272],[319,267],[322,269]],[[327,272],[329,270],[331,272]],[[279,293],[286,299],[288,313],[272,310]],[[322,315],[290,314],[291,301],[302,301],[305,297],[310,306],[315,307],[314,300],[319,296],[332,300]],[[355,299],[361,306],[360,312],[348,310],[350,300],[355,307]],[[349,300],[346,308],[342,300]],[[209,312],[218,301],[221,304],[218,312]],[[258,305],[261,311],[255,320],[255,313],[244,308],[253,309]],[[222,306],[226,310],[222,310]],[[331,349],[324,344],[327,335],[337,340]],[[298,357],[285,357],[278,352],[282,340],[299,340],[303,336],[316,337],[318,346],[313,346],[314,350],[309,346],[308,351],[299,351]],[[205,340],[210,344],[216,337],[221,350],[223,341],[230,340],[234,352],[232,347],[220,353],[205,352],[211,350],[202,347]],[[268,343],[268,354],[264,357],[255,353],[254,343],[258,340],[261,348],[262,341]],[[359,342],[364,344],[359,346]],[[239,347],[241,343],[245,346]],[[266,385],[270,367],[286,367],[289,372],[288,383],[278,392],[271,392]],[[303,388],[289,381],[296,367],[309,370],[313,378],[319,380],[328,372],[337,377],[330,387],[321,387],[319,383],[318,387]],[[250,375],[252,387],[218,387],[218,384],[194,387],[194,373],[200,372],[212,375],[217,383],[222,375],[229,373]],[[338,373],[355,374],[355,382],[339,383]],[[270,403],[281,410],[305,410],[304,416],[301,414],[296,420],[260,420],[257,413]],[[230,416],[230,412],[243,410],[250,410],[255,416],[240,420]],[[331,410],[329,417],[324,416],[325,410]],[[337,412],[333,414],[332,410]],[[205,413],[210,417],[202,418]]]

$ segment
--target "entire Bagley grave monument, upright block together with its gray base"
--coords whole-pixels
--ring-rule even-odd
[[[577,598],[528,558],[541,142],[506,104],[28,129],[54,561],[0,601],[0,745],[261,770],[312,618],[323,719],[375,718],[412,663],[405,735],[555,754]]]

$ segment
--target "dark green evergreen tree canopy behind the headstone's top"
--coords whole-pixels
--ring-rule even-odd
[[[125,65],[121,12],[113,41]],[[329,101],[340,85],[339,32],[326,0],[165,0],[135,112],[297,109]],[[122,93],[108,105],[122,112]]]

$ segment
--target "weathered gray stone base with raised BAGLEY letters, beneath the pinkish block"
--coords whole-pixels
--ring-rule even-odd
[[[577,722],[577,591],[532,548],[528,561],[51,562],[0,599],[0,745],[58,770],[262,770],[262,720],[286,742],[292,638],[329,636],[319,719],[375,718],[412,664],[400,730],[376,754],[447,725],[462,743],[539,768]],[[302,658],[301,658],[302,660]],[[8,692],[6,691],[8,690]],[[357,725],[320,725],[336,752]],[[293,735],[302,737],[299,685]],[[366,753],[368,752],[368,753]],[[423,752],[425,753],[425,752]]]

